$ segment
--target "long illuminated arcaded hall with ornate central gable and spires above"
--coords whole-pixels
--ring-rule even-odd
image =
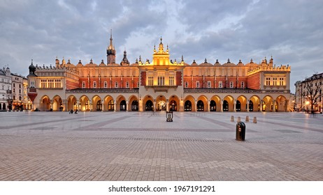
[[[288,111],[290,66],[172,61],[160,38],[152,61],[115,61],[110,36],[107,63],[56,59],[29,65],[29,107],[40,111]]]

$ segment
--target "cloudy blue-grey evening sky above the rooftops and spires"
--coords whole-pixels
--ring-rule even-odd
[[[323,72],[322,0],[0,0],[0,68],[27,76],[34,64],[106,62],[110,29],[117,63],[152,59],[162,36],[171,59],[186,63],[291,65],[294,83]]]

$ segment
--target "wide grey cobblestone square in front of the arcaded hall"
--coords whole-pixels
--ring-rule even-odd
[[[303,113],[1,112],[0,180],[322,181],[322,127]]]

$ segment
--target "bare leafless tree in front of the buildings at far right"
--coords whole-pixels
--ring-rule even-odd
[[[318,104],[323,97],[322,74],[313,75],[312,77],[305,79],[305,81],[303,81],[302,86],[303,86],[302,97],[308,100],[308,102],[310,103],[310,111],[314,112],[315,104]]]

